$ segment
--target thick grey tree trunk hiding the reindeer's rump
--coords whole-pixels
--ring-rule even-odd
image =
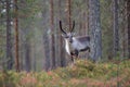
[[[91,59],[98,61],[102,57],[102,33],[100,23],[100,0],[89,0],[89,28],[91,37]]]

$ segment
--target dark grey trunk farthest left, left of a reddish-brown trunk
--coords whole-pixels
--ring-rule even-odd
[[[10,0],[6,0],[6,67],[12,70],[13,67],[13,55],[12,55],[12,41],[11,41],[11,4]]]

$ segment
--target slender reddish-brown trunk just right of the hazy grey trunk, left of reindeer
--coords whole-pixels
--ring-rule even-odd
[[[53,12],[53,0],[50,0],[50,26],[51,26],[51,60],[52,69],[55,69],[55,40],[54,40],[54,12]]]

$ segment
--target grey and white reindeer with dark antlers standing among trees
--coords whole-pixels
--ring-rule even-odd
[[[79,52],[89,50],[90,52],[90,37],[89,36],[74,36],[75,21],[73,22],[73,27],[69,33],[66,33],[62,28],[62,21],[60,21],[60,29],[62,36],[65,40],[65,50],[72,57],[74,62],[74,57],[78,58]]]

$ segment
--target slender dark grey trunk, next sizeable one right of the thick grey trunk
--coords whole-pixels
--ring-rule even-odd
[[[118,0],[113,0],[113,3],[114,3],[114,10],[113,10],[113,13],[114,13],[114,24],[113,24],[113,27],[114,27],[114,34],[113,34],[113,37],[114,37],[114,47],[113,47],[113,53],[114,53],[114,57],[117,55],[117,52],[119,51],[119,27],[118,27]]]

